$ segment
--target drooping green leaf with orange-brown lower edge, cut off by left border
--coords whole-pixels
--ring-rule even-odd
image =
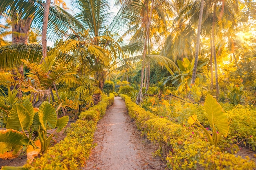
[[[11,159],[22,148],[24,135],[13,129],[0,130],[0,158]]]

